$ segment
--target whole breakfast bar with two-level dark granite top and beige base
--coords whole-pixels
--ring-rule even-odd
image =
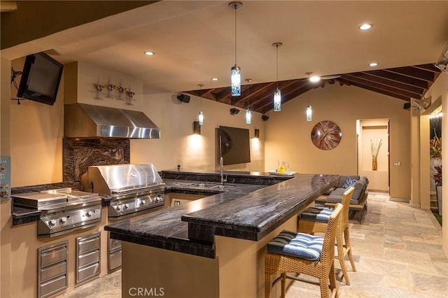
[[[338,177],[229,183],[218,194],[107,225],[123,241],[122,297],[263,297],[266,243],[282,229],[295,231],[297,214]]]

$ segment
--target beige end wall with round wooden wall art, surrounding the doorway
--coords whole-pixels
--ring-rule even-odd
[[[313,120],[306,122],[304,111],[313,107]],[[276,169],[277,159],[289,162],[299,173],[357,173],[356,120],[390,119],[391,197],[410,198],[409,111],[404,101],[358,87],[325,85],[286,104],[281,112],[269,112],[265,136],[265,169]],[[330,120],[342,130],[339,146],[320,150],[311,142],[317,122]]]

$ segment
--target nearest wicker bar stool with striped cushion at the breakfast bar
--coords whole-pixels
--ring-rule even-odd
[[[286,295],[286,278],[304,281],[300,276],[287,273],[307,274],[319,279],[321,297],[337,297],[335,277],[335,236],[337,221],[342,214],[342,204],[337,204],[328,220],[325,236],[283,231],[267,243],[265,256],[265,297],[272,297],[272,286],[281,280],[281,297]],[[280,274],[272,282],[272,276]],[[304,281],[305,283],[312,283]],[[328,286],[330,284],[330,287]],[[331,290],[331,292],[330,292]]]

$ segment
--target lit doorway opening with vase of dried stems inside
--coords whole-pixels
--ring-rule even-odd
[[[356,125],[358,175],[367,176],[369,190],[389,193],[389,120],[363,119]]]

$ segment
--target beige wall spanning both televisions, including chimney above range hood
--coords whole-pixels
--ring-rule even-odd
[[[13,61],[14,69],[22,69],[24,59]],[[64,136],[64,96],[73,102],[76,93],[78,102],[144,111],[160,127],[162,138],[131,141],[131,162],[153,162],[157,169],[174,169],[181,164],[183,169],[216,169],[215,129],[219,125],[250,129],[251,163],[225,166],[226,170],[263,171],[264,166],[264,122],[260,113],[253,113],[251,125],[246,125],[244,111],[230,115],[230,106],[203,100],[202,111],[205,124],[200,136],[193,135],[193,121],[197,120],[200,98],[191,97],[190,103],[181,103],[174,93],[143,94],[140,80],[109,71],[83,62],[69,65],[70,76],[78,86],[73,88],[71,80],[62,78],[57,101],[54,106],[34,101],[11,104],[10,137],[13,187],[57,183],[62,181],[62,137]],[[69,73],[64,73],[64,76]],[[75,80],[76,78],[76,80]],[[109,99],[103,90],[102,99],[94,99],[94,83],[105,84],[111,80],[116,85],[131,86],[136,92],[133,106],[116,98]],[[64,84],[65,83],[65,84]],[[65,92],[64,85],[71,90]],[[16,91],[12,90],[13,93]],[[114,92],[113,94],[118,94]],[[260,139],[254,139],[254,129],[260,129]]]

